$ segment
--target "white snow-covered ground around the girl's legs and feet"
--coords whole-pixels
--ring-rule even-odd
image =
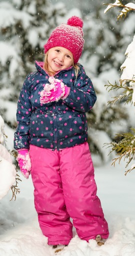
[[[124,176],[125,163],[108,163],[95,168],[97,195],[109,226],[109,238],[101,247],[74,237],[62,256],[135,256],[135,172]],[[11,192],[0,200],[0,256],[52,256],[54,250],[40,231],[33,205],[31,177],[20,174],[20,194],[10,201]]]

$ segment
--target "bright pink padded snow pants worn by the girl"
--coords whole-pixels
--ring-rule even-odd
[[[31,145],[29,154],[34,205],[48,244],[68,244],[72,223],[80,239],[107,238],[88,144],[61,151]]]

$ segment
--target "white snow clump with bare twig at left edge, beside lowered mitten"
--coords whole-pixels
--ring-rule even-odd
[[[10,153],[5,147],[4,120],[0,116],[0,199],[2,199],[8,191],[12,190],[12,198],[16,197],[16,192],[19,192],[15,183],[16,170],[12,163]]]

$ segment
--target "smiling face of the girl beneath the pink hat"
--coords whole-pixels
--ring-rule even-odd
[[[48,50],[48,70],[56,73],[59,70],[69,68],[73,65],[72,53],[64,47],[53,47]]]

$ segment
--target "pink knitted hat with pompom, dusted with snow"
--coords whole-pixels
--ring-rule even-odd
[[[52,47],[64,47],[72,53],[74,64],[76,64],[81,56],[84,44],[82,27],[83,21],[79,17],[72,16],[69,18],[67,24],[61,24],[52,31],[44,45],[44,53]]]

